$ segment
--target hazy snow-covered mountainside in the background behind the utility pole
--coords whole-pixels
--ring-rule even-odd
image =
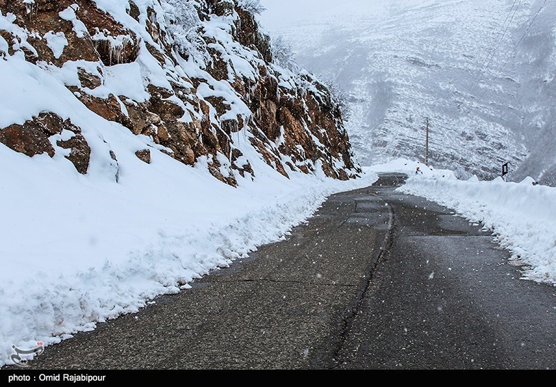
[[[556,183],[555,1],[263,4],[263,26],[347,94],[364,165],[423,160],[428,117],[433,166]]]

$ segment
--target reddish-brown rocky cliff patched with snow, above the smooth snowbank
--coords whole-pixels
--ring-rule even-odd
[[[284,176],[361,172],[330,92],[273,63],[270,38],[243,1],[0,0],[0,10],[3,60],[24,56],[92,112],[183,164],[202,160],[225,183],[254,178],[252,148]],[[86,174],[86,138],[55,113],[0,129],[0,142],[54,156],[52,136],[63,131],[73,134],[54,144]],[[149,149],[137,157],[151,162]]]

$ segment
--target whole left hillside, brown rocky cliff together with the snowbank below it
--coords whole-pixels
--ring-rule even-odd
[[[373,176],[252,1],[0,0],[0,365],[137,311]]]

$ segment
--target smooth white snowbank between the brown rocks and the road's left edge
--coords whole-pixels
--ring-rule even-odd
[[[96,322],[137,312],[157,295],[283,238],[327,195],[369,186],[292,172],[288,180],[256,154],[254,181],[232,188],[206,168],[151,149],[133,154],[130,133],[104,131],[120,182],[82,176],[63,156],[28,158],[0,144],[0,364],[11,345],[59,343]],[[254,151],[253,151],[254,152]]]

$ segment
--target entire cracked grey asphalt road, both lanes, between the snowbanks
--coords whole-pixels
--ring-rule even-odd
[[[556,288],[520,280],[490,233],[402,181],[330,197],[286,241],[31,368],[556,368]]]

